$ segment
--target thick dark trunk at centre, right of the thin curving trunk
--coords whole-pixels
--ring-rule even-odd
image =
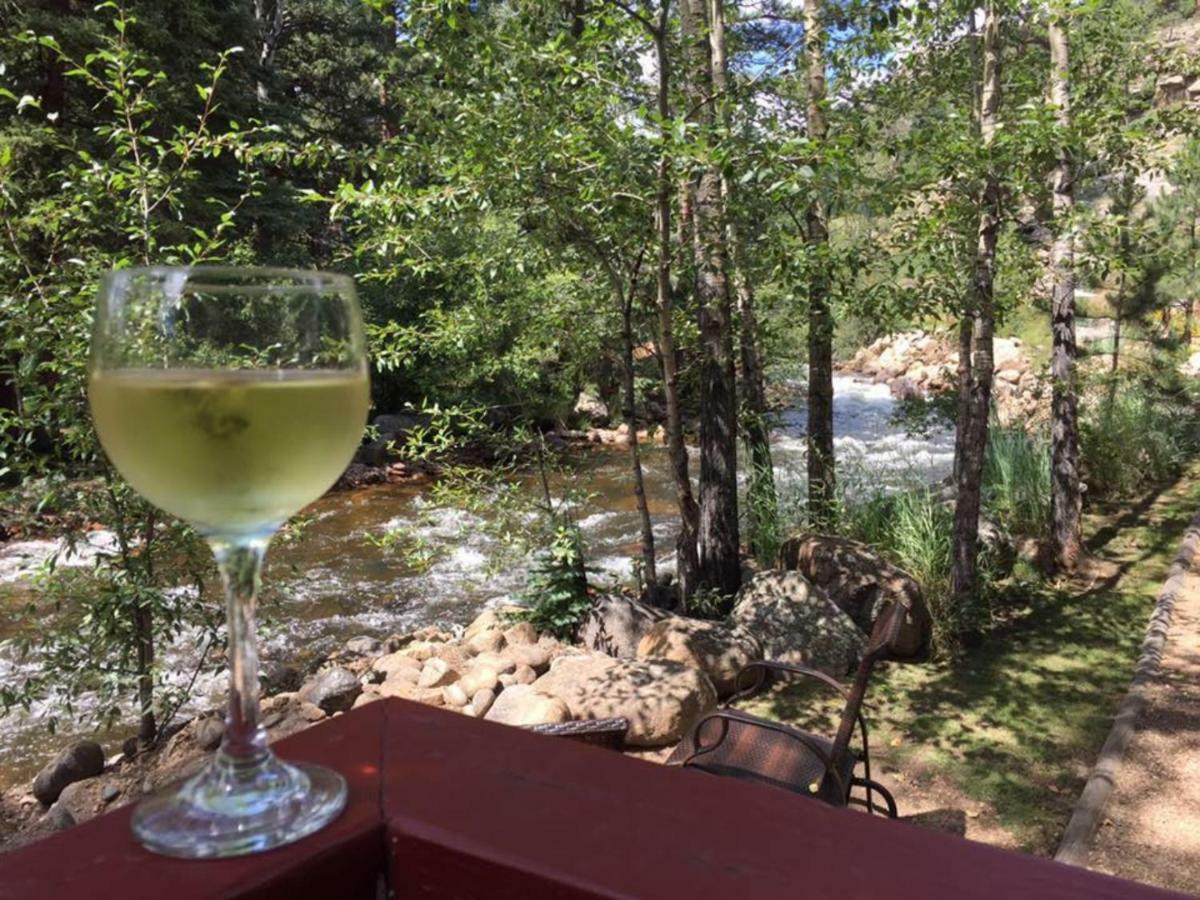
[[[688,118],[702,133],[714,127],[712,44],[707,0],[682,0],[688,60]],[[737,389],[733,310],[721,221],[721,179],[713,166],[692,176],[692,240],[700,325],[700,581],[732,594],[742,583],[738,541]]]

